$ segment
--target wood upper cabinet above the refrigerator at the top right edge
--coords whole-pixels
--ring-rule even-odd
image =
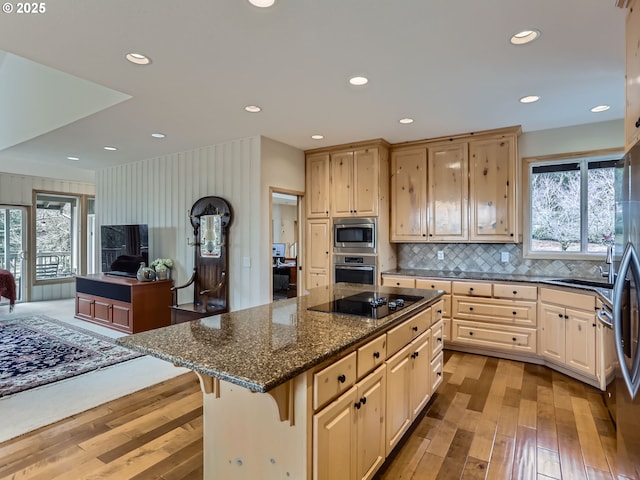
[[[640,140],[640,0],[633,0],[626,21],[625,151]]]

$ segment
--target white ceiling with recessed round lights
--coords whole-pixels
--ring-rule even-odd
[[[69,101],[84,104],[84,113],[39,130],[25,120],[33,138],[12,137],[4,145],[19,143],[0,150],[0,161],[98,169],[253,135],[309,149],[620,119],[625,12],[614,3],[277,0],[260,9],[246,0],[45,2],[45,13],[0,14],[0,50],[102,85],[118,100],[96,111],[73,89],[79,97]],[[509,43],[527,28],[539,29],[540,39]],[[133,65],[127,52],[152,63]],[[0,69],[4,63],[0,54]],[[370,82],[353,87],[353,75]],[[33,97],[0,103],[0,125],[48,116],[51,105],[60,110],[60,93],[28,85]],[[7,89],[0,74],[0,90]],[[46,95],[56,101],[41,101]],[[541,100],[520,104],[525,95]],[[247,113],[249,104],[263,111]],[[589,111],[600,104],[611,109]],[[415,122],[401,125],[402,117]],[[151,138],[157,131],[167,138]],[[325,139],[310,138],[317,133]]]

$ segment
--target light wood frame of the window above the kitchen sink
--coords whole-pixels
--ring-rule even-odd
[[[523,258],[545,259],[545,260],[603,260],[606,256],[604,252],[550,252],[532,251],[531,249],[531,170],[533,165],[554,165],[571,162],[582,162],[584,160],[614,160],[622,158],[624,150],[620,148],[609,148],[601,150],[589,150],[582,152],[571,152],[536,157],[526,157],[522,159],[522,246]],[[580,215],[587,219],[587,176],[580,176]],[[585,247],[588,236],[588,220],[582,221],[580,225],[581,250]]]

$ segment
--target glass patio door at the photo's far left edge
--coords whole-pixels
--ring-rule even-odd
[[[27,209],[0,205],[0,268],[9,270],[16,280],[16,301],[25,296],[25,262]],[[3,304],[8,300],[0,300]]]

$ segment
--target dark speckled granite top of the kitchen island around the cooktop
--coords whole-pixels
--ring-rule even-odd
[[[379,320],[307,310],[372,290],[424,299]],[[337,284],[288,300],[121,337],[117,342],[255,392],[267,392],[411,317],[442,293]]]

